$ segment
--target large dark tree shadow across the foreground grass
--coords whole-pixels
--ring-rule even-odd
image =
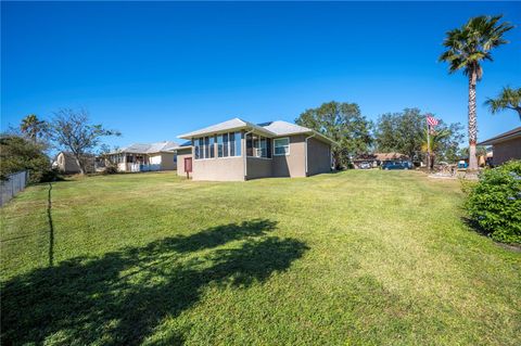
[[[165,318],[198,303],[208,284],[249,287],[302,257],[306,244],[268,235],[275,227],[231,223],[15,277],[1,292],[1,342],[141,344]],[[174,335],[168,344],[182,341]]]

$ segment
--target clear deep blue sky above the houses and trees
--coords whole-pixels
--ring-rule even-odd
[[[479,139],[521,121],[483,102],[521,86],[521,3],[1,4],[1,126],[85,107],[123,132],[109,142],[177,140],[242,117],[292,121],[306,108],[356,102],[370,119],[420,107],[467,121],[467,79],[437,63],[446,30],[505,14],[518,27],[484,64]]]

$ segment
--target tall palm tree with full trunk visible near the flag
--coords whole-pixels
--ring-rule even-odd
[[[513,28],[510,23],[499,23],[503,15],[470,18],[460,28],[448,31],[443,44],[447,50],[440,55],[440,62],[449,64],[449,73],[459,69],[469,78],[469,168],[478,169],[475,143],[478,124],[475,118],[475,85],[483,76],[481,63],[492,61],[491,50],[508,43],[503,35]]]

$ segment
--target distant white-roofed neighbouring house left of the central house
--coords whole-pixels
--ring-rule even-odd
[[[118,171],[149,171],[177,169],[177,149],[170,141],[141,144],[136,143],[104,155],[103,168],[107,162],[117,165]]]

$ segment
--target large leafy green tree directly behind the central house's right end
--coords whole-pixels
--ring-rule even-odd
[[[350,155],[367,152],[371,144],[371,123],[360,114],[356,103],[331,101],[317,108],[306,110],[295,123],[314,129],[336,142],[332,146],[334,166],[340,169]]]

